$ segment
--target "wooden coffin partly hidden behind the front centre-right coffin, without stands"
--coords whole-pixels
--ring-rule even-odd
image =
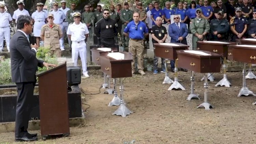
[[[213,43],[216,42],[216,43]],[[209,51],[216,54],[220,54],[223,57],[228,58],[228,56],[232,53],[228,51],[228,45],[236,44],[234,42],[218,42],[218,41],[198,41],[197,42],[197,50]]]

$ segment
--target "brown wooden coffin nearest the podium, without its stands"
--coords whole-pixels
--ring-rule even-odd
[[[132,55],[128,52],[119,52],[125,55],[123,60],[116,60],[112,57],[107,56],[108,53],[101,53],[101,70],[109,75],[111,78],[118,77],[131,77],[131,62]]]

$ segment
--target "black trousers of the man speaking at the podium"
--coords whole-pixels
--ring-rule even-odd
[[[33,105],[35,82],[16,83],[18,96],[15,118],[15,138],[26,136]]]

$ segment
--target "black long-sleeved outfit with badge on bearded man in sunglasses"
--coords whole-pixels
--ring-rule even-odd
[[[117,33],[115,27],[116,21],[112,18],[102,18],[95,27],[95,34],[101,40],[102,47],[114,47],[114,37]]]

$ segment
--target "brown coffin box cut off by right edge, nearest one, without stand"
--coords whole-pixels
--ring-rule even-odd
[[[229,45],[233,49],[233,60],[256,64],[256,45]]]

